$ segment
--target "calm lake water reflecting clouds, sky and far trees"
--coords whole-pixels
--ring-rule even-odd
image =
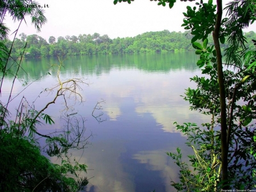
[[[93,135],[84,152],[72,152],[80,163],[88,165],[86,177],[90,180],[86,191],[174,191],[170,183],[177,181],[178,169],[166,152],[175,152],[179,147],[184,161],[185,155],[192,153],[174,122],[200,124],[207,119],[190,111],[189,103],[180,97],[185,89],[195,87],[189,78],[200,76],[196,61],[193,52],[73,56],[64,60],[62,80],[84,78],[89,84],[81,85],[79,90],[85,100],[83,105],[77,103],[69,112],[84,117],[85,135]],[[15,82],[12,98],[24,89],[22,82],[33,83],[10,103],[13,116],[23,96],[36,110],[55,96],[54,91],[41,93],[57,84],[52,64],[58,64],[58,60],[23,61],[26,73],[19,73],[20,81]],[[46,76],[48,72],[51,75]],[[11,82],[6,78],[2,101],[9,94]],[[100,118],[105,121],[98,123],[92,111],[102,99],[102,109],[94,111],[94,115],[102,112]],[[63,99],[59,98],[45,111],[53,116],[55,125],[40,126],[39,131],[47,133],[63,126],[61,103]]]

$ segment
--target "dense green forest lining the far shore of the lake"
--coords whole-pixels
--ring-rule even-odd
[[[49,56],[71,56],[71,55],[96,55],[114,53],[144,53],[144,52],[171,52],[171,51],[194,51],[191,45],[191,35],[186,32],[170,32],[168,30],[158,32],[146,32],[135,37],[125,37],[110,39],[108,35],[79,35],[78,37],[50,36],[48,42],[38,35],[19,35],[13,47],[13,56],[19,56],[26,45],[26,58],[39,58]],[[253,31],[245,33],[247,46],[253,45],[251,39],[256,39]],[[7,47],[11,47],[12,41],[7,42]],[[209,39],[209,44],[213,40]],[[226,48],[226,44],[222,48]]]

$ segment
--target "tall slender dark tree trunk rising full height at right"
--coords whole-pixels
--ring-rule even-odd
[[[228,180],[228,144],[226,143],[227,129],[226,124],[226,99],[225,99],[225,85],[224,85],[224,76],[222,70],[222,58],[221,58],[221,49],[220,49],[220,27],[221,27],[221,18],[222,18],[222,0],[217,0],[217,19],[215,28],[213,31],[213,40],[216,49],[217,55],[217,73],[218,73],[218,85],[220,87],[220,104],[221,104],[221,181],[222,189],[226,189],[226,181]]]

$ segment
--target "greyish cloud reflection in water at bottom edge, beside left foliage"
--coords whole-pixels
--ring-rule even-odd
[[[122,162],[119,160],[121,153],[125,152],[123,141],[118,141],[118,145],[115,142],[101,141],[85,149],[80,163],[86,164],[88,169],[93,169],[88,170],[86,174],[87,178],[92,177],[86,191],[135,191],[133,177],[123,171]],[[73,156],[76,154],[73,153]],[[79,159],[80,156],[77,155],[76,158]]]

